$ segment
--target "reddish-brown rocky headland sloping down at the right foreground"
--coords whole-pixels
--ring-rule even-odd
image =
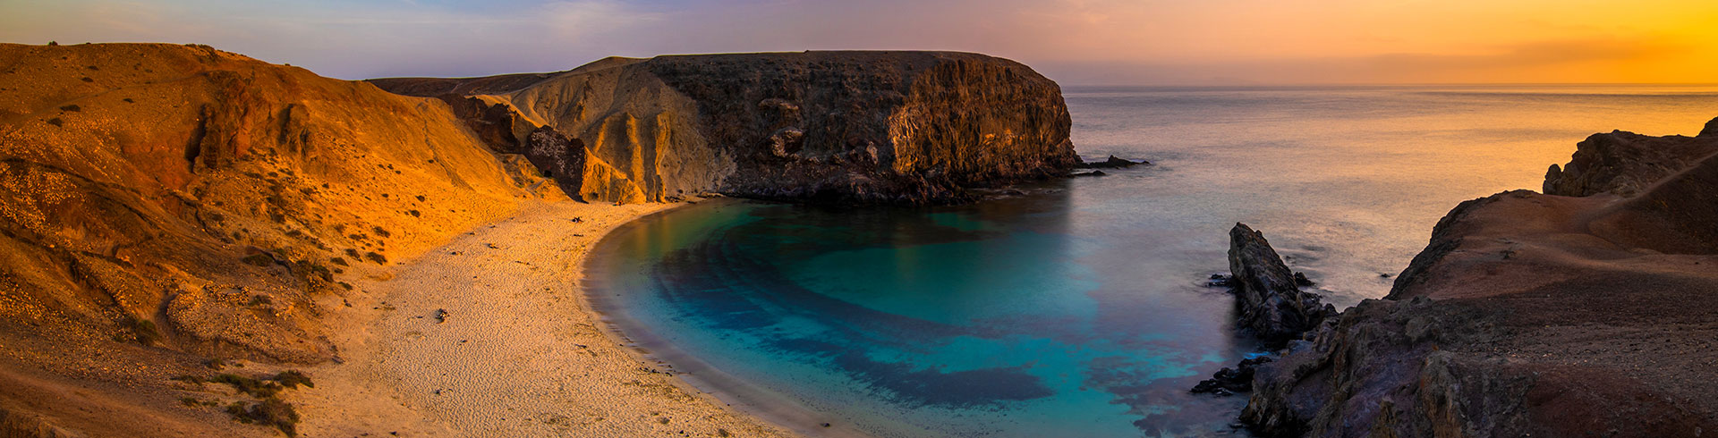
[[[1546,182],[1613,196],[1462,203],[1390,295],[1259,366],[1242,421],[1268,436],[1718,429],[1718,155],[1692,141],[1594,136],[1575,177]]]

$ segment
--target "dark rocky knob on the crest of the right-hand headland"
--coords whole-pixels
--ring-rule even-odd
[[[1651,137],[1625,131],[1593,134],[1575,144],[1569,165],[1551,165],[1544,173],[1544,194],[1634,196],[1713,153],[1718,153],[1718,119],[1708,122],[1697,137]]]

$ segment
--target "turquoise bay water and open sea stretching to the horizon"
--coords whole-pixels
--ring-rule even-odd
[[[1459,201],[1538,189],[1591,132],[1692,134],[1706,88],[1070,88],[1087,158],[1148,168],[945,208],[703,203],[612,234],[593,299],[706,390],[878,436],[1206,436],[1237,337],[1227,230],[1338,307],[1388,292]],[[823,428],[821,423],[830,423]]]

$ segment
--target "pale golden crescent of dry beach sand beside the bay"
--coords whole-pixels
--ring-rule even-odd
[[[308,369],[316,388],[287,393],[299,433],[790,436],[661,373],[589,309],[586,251],[672,206],[526,203],[416,259],[357,271],[354,294],[320,302],[344,309],[328,316],[340,359]]]

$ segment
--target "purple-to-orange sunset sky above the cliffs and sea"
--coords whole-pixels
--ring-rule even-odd
[[[342,79],[959,50],[1062,84],[1718,82],[1715,0],[0,0],[0,41],[206,43]]]

